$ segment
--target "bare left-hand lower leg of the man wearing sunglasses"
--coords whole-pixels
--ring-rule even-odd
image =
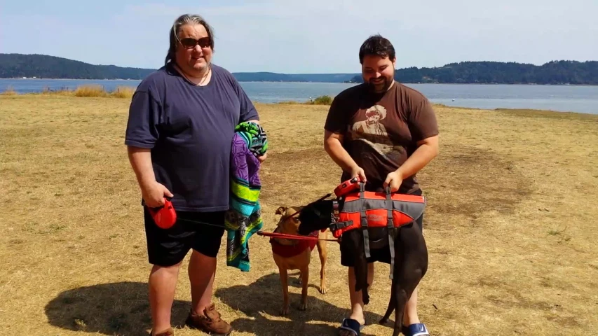
[[[170,311],[175,300],[180,265],[180,262],[170,267],[154,265],[149,273],[149,307],[154,333],[170,328]]]

